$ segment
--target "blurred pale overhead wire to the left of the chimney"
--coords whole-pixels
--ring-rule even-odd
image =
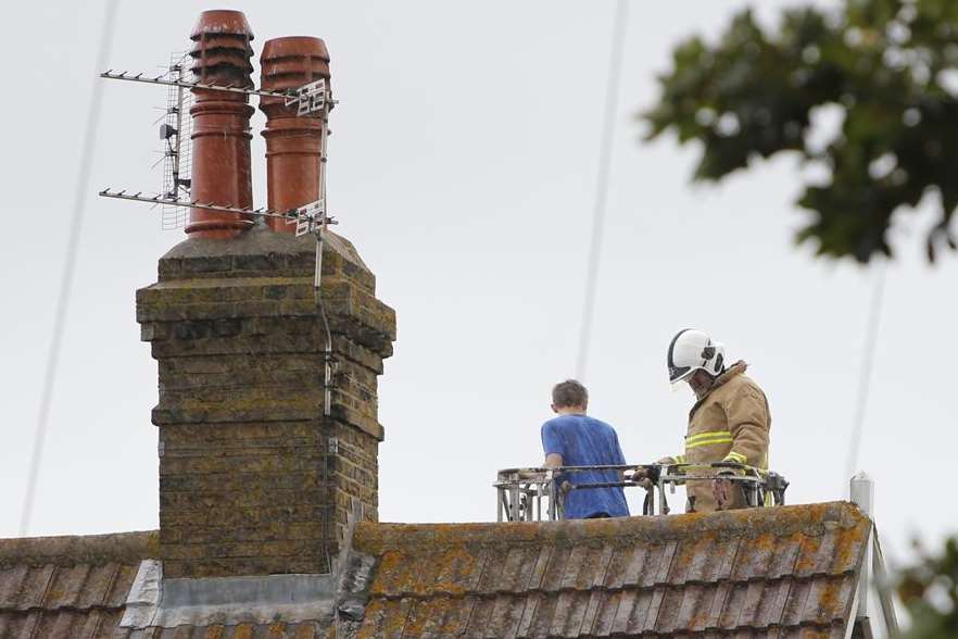
[[[96,71],[105,68],[110,58],[110,49],[113,45],[113,27],[116,23],[116,9],[118,0],[106,0],[103,9],[103,28],[100,33],[100,48],[97,52]],[[84,141],[80,146],[79,174],[76,180],[76,190],[73,196],[73,220],[70,224],[70,234],[66,240],[66,255],[63,260],[63,272],[60,275],[60,293],[56,298],[56,312],[53,320],[53,338],[50,341],[50,351],[47,354],[47,372],[43,377],[43,390],[40,396],[40,412],[37,417],[37,430],[34,436],[34,450],[30,455],[29,475],[27,475],[26,493],[23,501],[23,511],[20,517],[20,535],[27,534],[30,516],[34,511],[34,500],[37,493],[37,479],[40,473],[40,462],[43,459],[43,447],[47,440],[47,429],[50,421],[50,406],[53,403],[53,384],[56,380],[56,368],[60,364],[60,351],[63,346],[63,330],[66,326],[66,311],[70,306],[70,293],[73,288],[73,273],[76,265],[77,248],[79,245],[80,230],[83,228],[84,213],[90,181],[90,167],[92,165],[93,148],[97,142],[97,129],[100,125],[100,110],[103,103],[103,83],[93,84],[93,93],[90,96],[90,105],[87,111],[87,125],[84,130]]]

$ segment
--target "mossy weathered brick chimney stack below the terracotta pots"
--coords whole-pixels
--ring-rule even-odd
[[[137,291],[160,368],[160,555],[167,577],[328,571],[355,502],[377,518],[377,378],[393,311],[342,238],[323,255],[326,333],[312,238],[254,229],[189,239]]]

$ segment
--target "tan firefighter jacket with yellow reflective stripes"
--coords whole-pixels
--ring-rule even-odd
[[[771,414],[762,390],[744,375],[746,367],[745,362],[733,364],[692,406],[685,453],[673,456],[676,463],[738,462],[768,468]],[[743,508],[742,491],[738,486],[733,488],[732,504],[726,508]],[[710,513],[717,509],[711,481],[690,481],[685,490],[695,498],[696,512]]]

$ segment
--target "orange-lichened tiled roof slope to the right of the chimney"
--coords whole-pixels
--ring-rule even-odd
[[[360,637],[844,637],[871,524],[844,502],[545,524],[361,524]]]

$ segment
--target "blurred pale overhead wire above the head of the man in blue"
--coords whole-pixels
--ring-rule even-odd
[[[608,61],[608,79],[605,87],[605,114],[602,122],[602,142],[598,151],[598,170],[595,177],[595,203],[592,213],[592,243],[589,248],[589,262],[585,271],[585,293],[582,299],[582,324],[579,334],[579,358],[576,362],[576,377],[585,377],[589,363],[589,349],[592,342],[592,321],[594,317],[595,289],[598,280],[598,261],[602,253],[602,234],[605,225],[605,209],[608,200],[609,168],[612,165],[613,134],[615,133],[616,108],[619,102],[619,85],[622,71],[622,52],[626,45],[626,23],[628,22],[628,0],[616,0],[613,23],[613,46]]]

